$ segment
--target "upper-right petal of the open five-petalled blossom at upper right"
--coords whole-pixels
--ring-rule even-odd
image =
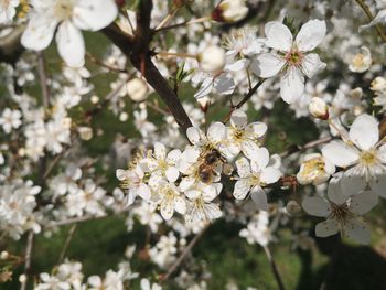
[[[310,20],[304,23],[297,37],[296,43],[302,52],[312,51],[325,36],[326,26],[324,20]]]

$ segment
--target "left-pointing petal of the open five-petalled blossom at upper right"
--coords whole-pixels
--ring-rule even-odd
[[[277,75],[286,61],[271,53],[262,53],[250,64],[250,69],[259,77],[268,78]]]

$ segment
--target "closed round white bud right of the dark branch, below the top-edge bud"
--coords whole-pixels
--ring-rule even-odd
[[[218,46],[207,46],[197,55],[201,69],[205,73],[217,73],[225,66],[225,51]]]

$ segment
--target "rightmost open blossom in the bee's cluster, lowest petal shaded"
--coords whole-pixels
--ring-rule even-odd
[[[247,159],[240,158],[236,161],[238,178],[233,196],[236,200],[244,200],[250,192],[250,197],[257,207],[268,211],[267,194],[262,186],[277,182],[281,172],[276,167],[269,165],[269,152],[266,148],[256,151],[256,159],[250,163]]]

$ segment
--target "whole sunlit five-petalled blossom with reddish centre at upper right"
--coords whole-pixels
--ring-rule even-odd
[[[253,72],[264,78],[283,72],[280,80],[280,95],[289,104],[294,103],[304,92],[304,75],[312,77],[325,64],[313,51],[325,36],[325,22],[310,20],[304,23],[296,40],[291,31],[278,21],[268,22],[265,26],[265,44],[271,53],[262,53],[251,64]]]

